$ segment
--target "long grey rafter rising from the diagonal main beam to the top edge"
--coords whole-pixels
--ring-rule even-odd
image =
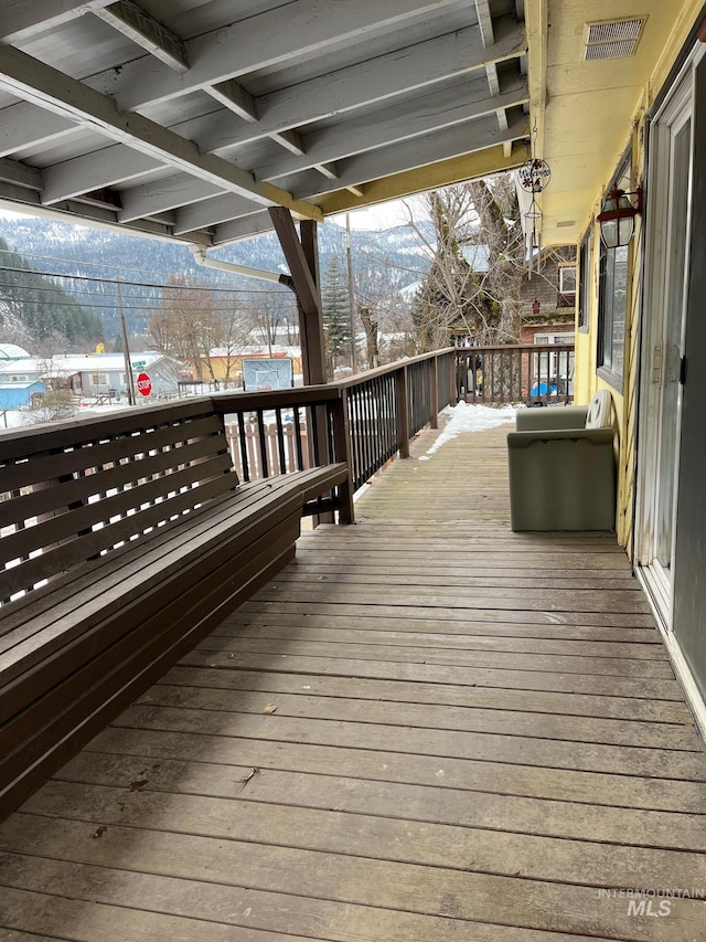
[[[186,42],[191,68],[185,75],[154,68],[151,57],[110,68],[89,80],[121,108],[140,109],[210,85],[290,62],[320,55],[331,45],[363,40],[381,28],[402,28],[406,20],[437,14],[458,0],[355,0],[336,3],[335,15],[321,0],[297,0],[232,27]]]

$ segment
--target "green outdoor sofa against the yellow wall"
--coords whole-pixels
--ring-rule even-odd
[[[612,398],[588,406],[518,409],[507,434],[513,530],[613,530]]]

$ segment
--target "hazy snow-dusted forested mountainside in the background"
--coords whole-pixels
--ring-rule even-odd
[[[335,223],[319,226],[322,273],[331,256],[345,256],[345,230]],[[7,242],[9,250],[0,250],[0,293],[3,283],[8,283],[7,269],[17,264],[9,254],[14,252],[35,272],[55,276],[54,282],[87,311],[95,314],[109,345],[120,334],[120,305],[128,331],[145,334],[150,314],[160,306],[160,287],[173,276],[212,288],[242,292],[244,299],[256,292],[277,290],[265,282],[203,268],[194,262],[185,245],[110,230],[13,215],[0,216],[0,239]],[[391,284],[395,290],[419,281],[420,273],[428,266],[418,240],[406,226],[386,232],[354,230],[351,252],[354,268],[385,269],[388,277],[393,276]],[[288,271],[275,233],[208,254],[269,272]],[[286,288],[279,290],[287,292]],[[228,297],[237,300],[239,295]]]

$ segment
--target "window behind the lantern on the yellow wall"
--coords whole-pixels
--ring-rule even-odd
[[[630,161],[627,159],[609,189],[632,190]],[[598,372],[614,389],[622,391],[628,317],[628,245],[606,248],[600,243],[598,269]]]

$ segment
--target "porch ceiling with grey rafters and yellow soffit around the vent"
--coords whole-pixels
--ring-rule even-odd
[[[9,0],[0,205],[207,247],[270,207],[321,221],[516,167],[534,136],[544,242],[570,242],[680,7]],[[582,61],[587,22],[638,13],[632,56]]]

